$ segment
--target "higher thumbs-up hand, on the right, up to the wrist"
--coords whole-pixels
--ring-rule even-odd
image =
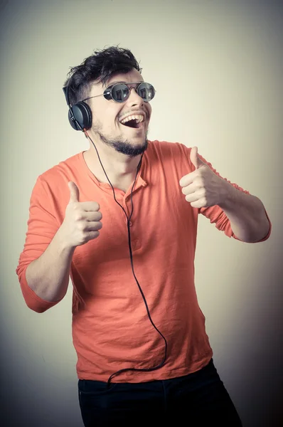
[[[179,184],[185,199],[193,208],[215,206],[222,203],[228,194],[228,182],[216,175],[210,167],[198,157],[198,147],[191,149],[190,159],[195,171],[183,176]]]

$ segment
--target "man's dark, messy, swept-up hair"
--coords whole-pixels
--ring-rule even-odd
[[[129,73],[133,68],[142,73],[142,68],[129,49],[111,46],[94,51],[80,65],[70,68],[65,81],[65,86],[68,85],[70,105],[89,95],[90,84],[94,80],[105,84],[115,74]]]

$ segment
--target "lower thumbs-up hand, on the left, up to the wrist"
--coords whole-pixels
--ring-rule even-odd
[[[68,182],[70,200],[61,225],[61,236],[69,248],[84,245],[100,235],[102,214],[96,201],[80,201],[80,191],[73,181]]]

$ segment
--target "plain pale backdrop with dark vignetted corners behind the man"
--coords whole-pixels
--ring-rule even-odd
[[[130,48],[156,88],[149,139],[198,146],[260,197],[265,243],[200,216],[196,288],[245,427],[282,426],[282,1],[1,1],[1,421],[81,427],[71,296],[39,315],[16,277],[38,174],[87,149],[63,82],[95,48]],[[178,207],[176,206],[176,209]]]

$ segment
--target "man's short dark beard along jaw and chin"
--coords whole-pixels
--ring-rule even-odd
[[[95,132],[95,134],[100,137],[101,141],[104,142],[106,145],[108,145],[108,147],[114,148],[114,150],[117,151],[118,153],[125,154],[126,156],[129,156],[129,157],[136,157],[136,156],[139,156],[139,154],[142,154],[143,152],[145,152],[147,149],[147,146],[149,143],[147,139],[148,131],[146,132],[146,137],[144,139],[144,142],[142,142],[142,144],[133,145],[131,144],[129,139],[122,139],[122,137],[117,137],[112,139],[107,135],[103,135],[101,132],[101,129],[102,129],[102,126],[98,125],[97,123],[96,125],[92,125],[92,131]]]

